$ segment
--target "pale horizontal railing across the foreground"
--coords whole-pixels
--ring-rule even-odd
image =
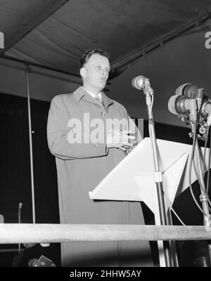
[[[211,240],[211,226],[0,224],[0,244],[139,240]]]

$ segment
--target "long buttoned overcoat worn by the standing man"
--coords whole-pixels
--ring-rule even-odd
[[[96,188],[126,153],[106,148],[106,136],[103,143],[68,141],[70,123],[74,120],[82,123],[82,136],[77,138],[84,141],[84,135],[87,137],[84,123],[101,119],[106,128],[106,119],[129,118],[120,103],[104,93],[102,96],[104,107],[79,87],[74,93],[58,95],[51,101],[47,137],[49,149],[56,156],[60,223],[144,224],[139,202],[89,198],[89,191]],[[129,129],[127,124],[123,129]],[[61,255],[62,266],[152,266],[148,242],[63,243]]]

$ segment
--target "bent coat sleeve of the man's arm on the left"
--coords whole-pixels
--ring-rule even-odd
[[[60,96],[53,98],[47,123],[47,139],[51,153],[65,160],[107,155],[106,142],[94,144],[70,143],[68,141],[70,115],[71,112],[68,112]]]

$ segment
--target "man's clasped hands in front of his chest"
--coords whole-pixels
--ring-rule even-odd
[[[108,148],[119,148],[120,150],[130,150],[136,144],[135,136],[128,136],[132,131],[112,130],[110,129],[106,136],[106,145]]]

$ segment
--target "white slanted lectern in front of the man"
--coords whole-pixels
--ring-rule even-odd
[[[177,192],[189,186],[188,163],[191,145],[157,140],[158,161],[162,171],[166,209],[174,202]],[[203,150],[202,150],[203,152]],[[208,155],[209,149],[206,151]],[[206,157],[206,163],[208,157]],[[206,166],[207,167],[207,166]],[[191,183],[196,181],[192,169]],[[158,216],[158,197],[154,182],[154,164],[150,138],[144,138],[99,185],[89,192],[95,200],[143,201]]]

